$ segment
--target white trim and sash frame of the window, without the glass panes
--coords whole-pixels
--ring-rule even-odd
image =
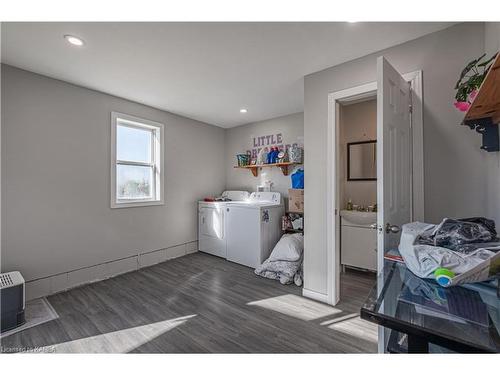
[[[131,127],[151,128],[155,131],[154,137],[154,197],[152,199],[138,199],[118,201],[116,197],[116,165],[120,162],[116,159],[116,129],[118,119],[126,121]],[[142,119],[139,117],[130,116],[124,113],[111,112],[111,208],[127,208],[127,207],[142,207],[142,206],[159,206],[165,204],[164,201],[164,180],[165,172],[163,170],[164,153],[165,153],[165,127],[163,124],[151,120]],[[127,164],[147,165],[149,163],[134,163],[127,161]]]

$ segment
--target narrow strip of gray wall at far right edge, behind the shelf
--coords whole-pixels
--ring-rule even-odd
[[[485,24],[485,52],[491,56],[500,51],[500,22]],[[487,216],[500,226],[500,152],[485,153]]]

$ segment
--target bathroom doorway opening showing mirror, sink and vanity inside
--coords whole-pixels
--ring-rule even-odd
[[[377,97],[339,102],[340,302],[366,298],[377,271]]]

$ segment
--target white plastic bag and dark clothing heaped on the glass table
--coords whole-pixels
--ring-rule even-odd
[[[438,268],[460,275],[499,251],[495,222],[483,217],[444,219],[438,225],[405,224],[399,244],[407,267],[422,278],[434,278]]]

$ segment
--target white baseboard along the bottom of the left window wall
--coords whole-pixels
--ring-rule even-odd
[[[96,264],[93,266],[70,270],[56,275],[26,282],[26,300],[46,297],[85,284],[92,284],[120,274],[137,271],[158,263],[166,262],[194,252],[198,241],[190,241],[150,252],[138,253],[122,259]]]

